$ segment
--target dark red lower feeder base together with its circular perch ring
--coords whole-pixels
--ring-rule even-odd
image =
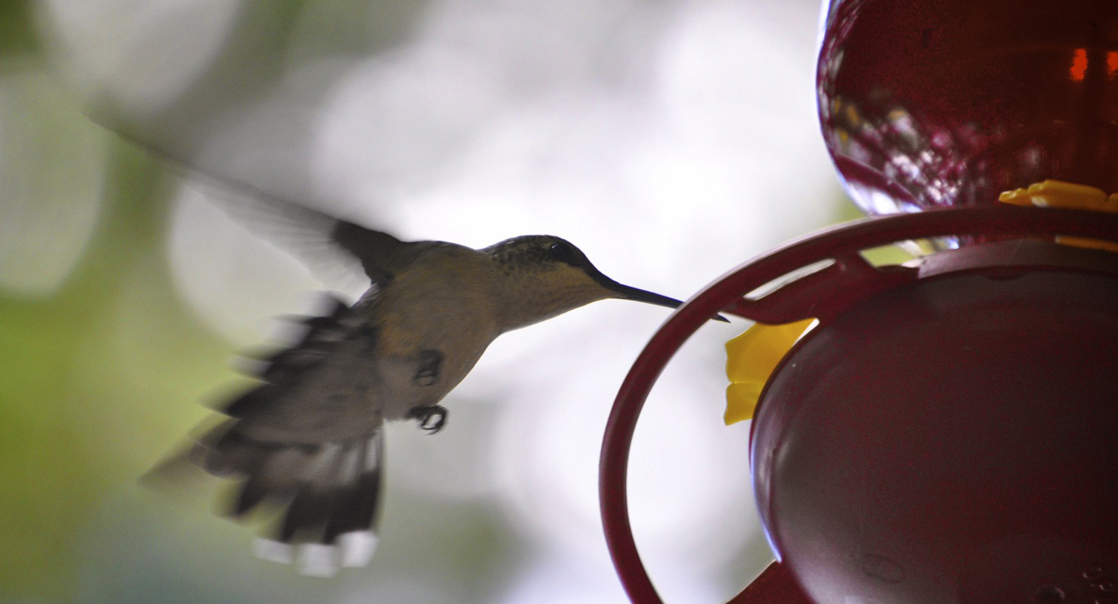
[[[1007,240],[919,268],[859,255],[975,235]],[[641,406],[675,350],[727,312],[819,320],[754,419],[755,491],[783,564],[735,604],[1118,603],[1118,256],[1057,235],[1118,240],[1118,216],[985,207],[864,220],[765,254],[680,308],[633,364],[603,443],[603,521],[629,597],[660,602],[626,507]]]

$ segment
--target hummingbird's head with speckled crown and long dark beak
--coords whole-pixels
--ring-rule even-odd
[[[590,302],[615,298],[670,309],[682,302],[623,285],[598,271],[581,249],[551,235],[513,237],[483,249],[504,275],[509,328],[529,325]]]

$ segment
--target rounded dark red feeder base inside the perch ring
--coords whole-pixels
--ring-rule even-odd
[[[1093,604],[1118,581],[1118,258],[1003,242],[913,277],[769,381],[771,542],[821,603]]]

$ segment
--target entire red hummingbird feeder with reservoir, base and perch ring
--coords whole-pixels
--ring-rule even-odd
[[[827,10],[832,157],[864,209],[911,214],[755,258],[652,338],[603,446],[622,582],[659,602],[626,510],[637,414],[728,312],[817,320],[759,394],[750,461],[778,561],[733,602],[1118,604],[1118,2]],[[939,252],[862,255],[911,240]]]

